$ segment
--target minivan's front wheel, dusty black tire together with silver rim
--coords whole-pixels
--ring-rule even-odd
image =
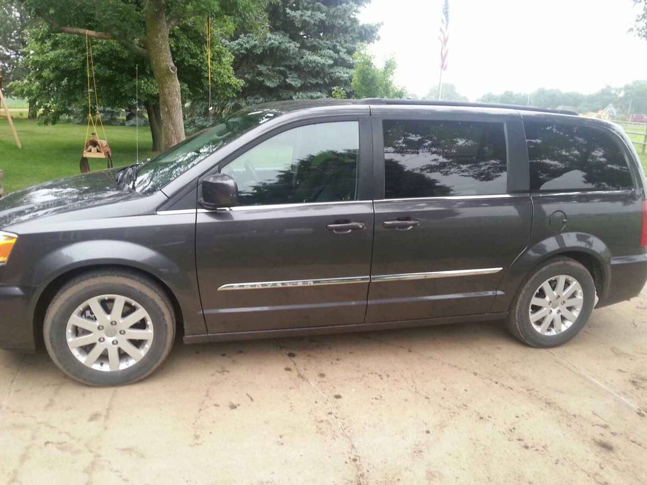
[[[101,270],[76,277],[58,291],[45,314],[43,336],[54,363],[72,379],[124,385],[145,378],[166,359],[175,318],[168,297],[153,281]]]

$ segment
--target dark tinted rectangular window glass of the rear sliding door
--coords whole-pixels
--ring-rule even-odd
[[[503,124],[384,120],[386,199],[506,193]]]

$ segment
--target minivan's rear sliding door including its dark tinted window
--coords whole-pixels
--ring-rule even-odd
[[[528,164],[514,111],[375,107],[367,322],[490,311],[526,247]]]

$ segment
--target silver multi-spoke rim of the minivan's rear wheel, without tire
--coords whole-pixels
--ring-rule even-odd
[[[542,335],[557,335],[575,323],[584,306],[582,285],[569,275],[547,279],[532,297],[529,316],[532,328]]]

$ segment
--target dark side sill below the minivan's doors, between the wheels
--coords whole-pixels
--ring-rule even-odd
[[[304,335],[342,334],[368,332],[371,330],[397,330],[446,323],[471,323],[475,321],[496,321],[507,318],[507,312],[461,315],[453,317],[426,318],[421,320],[384,321],[377,323],[355,323],[351,325],[327,325],[325,327],[302,327],[298,329],[250,330],[248,332],[223,332],[215,334],[185,335],[184,343],[223,342],[233,340],[254,340],[263,338],[297,337]]]

